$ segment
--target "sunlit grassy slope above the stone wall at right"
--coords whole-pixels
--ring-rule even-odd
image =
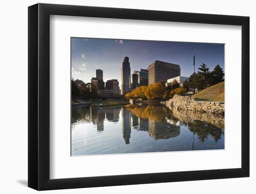
[[[224,102],[224,81],[208,87],[193,95],[200,100]]]

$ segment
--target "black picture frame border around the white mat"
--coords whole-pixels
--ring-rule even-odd
[[[50,15],[242,26],[242,167],[50,179]],[[249,176],[249,17],[36,4],[28,7],[28,187],[36,190],[196,181]]]

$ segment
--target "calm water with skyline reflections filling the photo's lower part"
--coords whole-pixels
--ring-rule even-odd
[[[224,149],[223,118],[184,115],[162,104],[74,107],[72,155]]]

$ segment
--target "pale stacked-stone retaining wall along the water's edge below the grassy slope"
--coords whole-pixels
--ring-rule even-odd
[[[174,95],[174,97],[166,101],[166,106],[171,109],[180,109],[208,114],[223,114],[224,102],[200,101],[195,100],[192,96]]]

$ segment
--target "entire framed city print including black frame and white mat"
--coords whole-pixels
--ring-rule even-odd
[[[28,7],[28,186],[249,176],[249,17]]]

